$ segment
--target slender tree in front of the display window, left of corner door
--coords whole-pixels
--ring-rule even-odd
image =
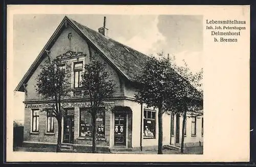
[[[90,58],[90,63],[84,66],[81,87],[90,100],[90,114],[92,116],[92,152],[96,152],[96,118],[103,100],[110,98],[115,91],[111,73],[106,71],[106,64],[101,62],[97,53]]]

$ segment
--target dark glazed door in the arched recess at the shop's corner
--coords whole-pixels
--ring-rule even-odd
[[[115,146],[126,145],[126,115],[124,113],[115,113],[114,127]]]

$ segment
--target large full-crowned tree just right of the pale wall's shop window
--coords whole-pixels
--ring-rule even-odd
[[[177,96],[181,80],[172,68],[172,64],[164,57],[160,59],[151,57],[136,80],[141,85],[135,94],[136,100],[148,107],[158,108],[158,154],[163,154],[162,115],[168,111],[168,106]]]

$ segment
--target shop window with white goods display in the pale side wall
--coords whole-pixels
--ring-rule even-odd
[[[156,138],[156,111],[144,109],[143,138]]]

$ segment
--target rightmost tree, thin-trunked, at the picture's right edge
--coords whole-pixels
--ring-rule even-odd
[[[170,60],[173,62],[173,67],[179,75],[183,77],[182,85],[183,87],[179,89],[181,93],[177,93],[178,96],[173,103],[174,106],[170,106],[174,112],[179,113],[183,116],[182,120],[182,137],[181,137],[181,153],[184,152],[184,131],[185,123],[188,111],[195,111],[201,108],[202,98],[200,95],[203,93],[202,89],[202,78],[203,78],[203,68],[193,74],[189,69],[187,63],[183,59],[184,66],[178,66],[175,63],[175,56]]]

